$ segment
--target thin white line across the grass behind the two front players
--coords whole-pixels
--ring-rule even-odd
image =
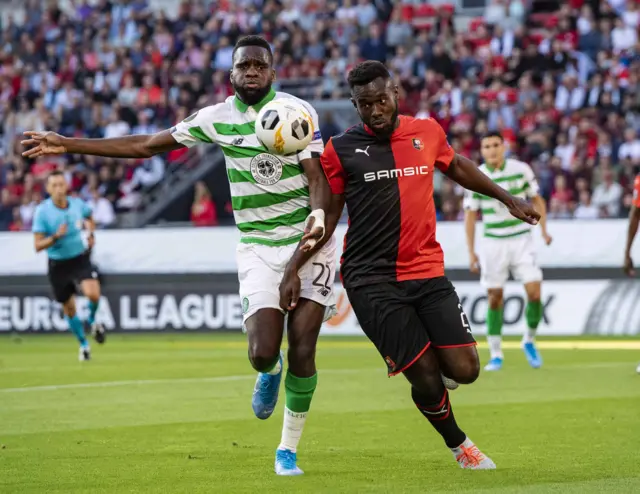
[[[381,368],[378,368],[378,370]],[[370,372],[374,369],[326,369],[320,371],[321,374],[348,374],[357,372]],[[64,389],[83,388],[115,388],[118,386],[144,386],[147,384],[185,384],[185,383],[207,383],[207,382],[229,382],[255,379],[256,374],[240,376],[217,376],[217,377],[185,377],[178,379],[138,379],[131,381],[105,381],[95,383],[75,383],[75,384],[53,384],[49,386],[25,386],[22,388],[0,388],[0,393],[27,393],[31,391],[59,391]]]

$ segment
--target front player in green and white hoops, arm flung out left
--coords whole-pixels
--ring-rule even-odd
[[[247,36],[236,43],[233,52],[235,96],[201,109],[172,129],[113,139],[27,132],[23,145],[31,148],[24,156],[32,158],[61,153],[148,158],[198,143],[221,147],[234,216],[242,234],[237,262],[249,360],[259,371],[252,406],[260,419],[273,413],[283,373],[280,345],[288,311],[286,406],[275,470],[279,475],[299,475],[302,470],[297,466],[296,449],[317,383],[316,342],[325,314],[333,306],[333,231],[338,218],[328,216],[325,227],[324,212],[314,208],[323,204],[321,198],[329,190],[319,160],[323,143],[317,114],[302,100],[274,92],[274,79],[268,42]],[[314,139],[297,155],[272,155],[256,138],[258,112],[277,98],[296,99],[311,116]],[[307,238],[301,242],[307,224],[313,226],[309,232],[312,237],[307,238],[319,239],[311,250]],[[299,271],[291,267],[301,265],[296,260],[305,258],[313,262],[305,263]],[[290,290],[292,286],[297,288]],[[300,299],[293,300],[289,293],[299,293]]]

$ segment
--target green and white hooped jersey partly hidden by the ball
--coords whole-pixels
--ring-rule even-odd
[[[304,151],[276,156],[255,134],[255,121],[264,105],[290,98],[311,115],[313,140]],[[271,92],[258,104],[247,106],[235,96],[208,106],[186,118],[171,135],[187,147],[218,144],[222,149],[231,187],[231,204],[241,242],[269,246],[297,243],[302,238],[309,207],[309,182],[300,162],[321,154],[318,114],[307,102],[287,93]]]

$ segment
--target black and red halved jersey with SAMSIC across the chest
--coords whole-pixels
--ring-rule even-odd
[[[320,158],[349,212],[345,287],[444,275],[433,174],[446,171],[455,153],[435,120],[399,118],[390,139],[360,124],[331,138]]]

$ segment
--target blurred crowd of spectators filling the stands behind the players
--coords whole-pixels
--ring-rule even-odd
[[[25,0],[24,19],[7,17],[0,30],[0,229],[30,228],[55,168],[102,226],[135,210],[188,151],[26,161],[22,132],[171,127],[232,94],[233,44],[249,33],[272,43],[280,90],[344,100],[350,68],[383,61],[400,112],[437,119],[459,153],[480,162],[479,136],[501,131],[510,154],[533,166],[550,217],[624,215],[640,168],[638,2],[487,2],[483,17],[464,19],[452,5],[417,0],[195,0],[171,17],[147,0]],[[343,130],[321,124],[325,139]],[[462,191],[440,180],[440,218],[460,219]],[[212,213],[206,186],[197,188],[194,224],[229,214]]]

